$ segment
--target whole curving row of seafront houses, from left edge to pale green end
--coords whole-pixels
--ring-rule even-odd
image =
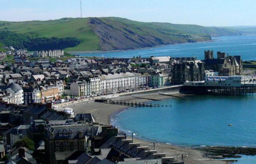
[[[75,81],[66,86],[66,82],[55,80],[54,84],[43,84],[44,75],[33,75],[30,83],[38,86],[20,86],[14,82],[8,86],[0,86],[0,99],[10,104],[44,103],[59,99],[62,95],[89,96],[104,94],[120,90],[137,90],[142,86],[166,86],[169,84],[167,74],[156,72],[154,74],[116,73],[102,74],[98,77],[88,78],[88,81]]]

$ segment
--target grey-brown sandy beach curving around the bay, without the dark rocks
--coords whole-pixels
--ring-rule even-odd
[[[182,94],[176,94],[177,96],[184,96]],[[111,96],[110,96],[111,97]],[[112,96],[114,97],[114,96]],[[144,98],[154,98],[154,99],[164,99],[164,98],[175,98],[171,96],[164,96],[157,93],[143,95]],[[131,95],[118,96],[113,98],[114,100],[126,100],[126,101],[136,101],[136,102],[148,102],[150,100],[140,99],[132,97]],[[157,101],[159,103],[159,101]],[[128,106],[116,105],[116,104],[106,104],[101,102],[94,102],[94,100],[80,100],[73,104],[70,102],[67,105],[59,104],[58,106],[67,106],[74,109],[75,115],[77,113],[92,113],[96,122],[103,124],[110,124],[110,119],[114,114],[127,109]],[[134,142],[140,142],[142,146],[149,146],[153,149],[153,142],[145,141],[140,138],[134,137]],[[182,154],[184,156],[184,162],[186,164],[227,164],[224,161],[210,161],[203,157],[203,154],[199,150],[194,150],[189,147],[180,147],[171,144],[159,143],[155,144],[155,149],[158,152],[164,152],[167,156],[174,156],[176,160],[181,160]],[[188,157],[187,157],[188,156]]]

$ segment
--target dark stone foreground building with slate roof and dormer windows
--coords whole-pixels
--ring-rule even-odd
[[[108,128],[112,126],[96,123],[50,126],[46,129],[44,141],[45,156],[48,157],[46,163],[54,164],[54,159],[63,152],[86,150],[88,138],[97,136]]]

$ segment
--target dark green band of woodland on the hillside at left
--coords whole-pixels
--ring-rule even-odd
[[[26,34],[16,34],[10,31],[0,31],[0,42],[16,49],[26,48],[29,51],[65,49],[80,43],[77,38],[31,38]]]

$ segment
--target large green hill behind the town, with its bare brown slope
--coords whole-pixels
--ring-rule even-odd
[[[31,49],[38,48],[38,45],[35,46],[31,40],[43,40],[42,44],[46,38],[51,38],[52,42],[58,43],[58,40],[52,39],[53,37],[61,38],[60,40],[68,40],[67,38],[79,40],[79,42],[75,40],[74,42],[77,44],[71,44],[72,47],[66,46],[68,47],[65,49],[66,51],[135,49],[164,44],[207,41],[211,40],[211,36],[241,35],[241,32],[231,28],[146,23],[117,17],[62,18],[25,22],[0,21],[0,32],[8,32],[8,35],[2,33],[5,34],[2,38],[0,33],[0,42],[6,46],[14,44],[12,41],[16,37],[19,38],[18,42],[22,46],[28,48],[30,45]],[[47,48],[44,45],[42,47]]]

